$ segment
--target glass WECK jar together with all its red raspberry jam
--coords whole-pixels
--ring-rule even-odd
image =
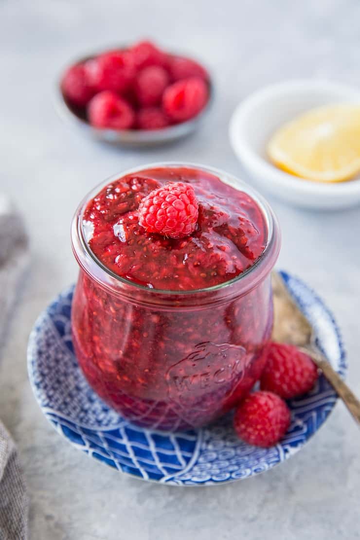
[[[191,184],[198,201],[196,224],[184,228],[193,232],[171,238],[139,225],[149,219],[139,217],[144,208],[161,217],[161,195],[173,190],[173,201],[178,182]],[[172,226],[184,215],[172,210]],[[259,378],[280,233],[249,186],[194,165],[128,171],[81,203],[72,245],[80,266],[75,352],[93,389],[126,419],[160,430],[199,427]]]

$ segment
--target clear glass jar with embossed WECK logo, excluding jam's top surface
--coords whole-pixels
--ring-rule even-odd
[[[280,249],[274,213],[247,184],[213,173],[248,193],[262,211],[267,244],[236,278],[198,291],[160,291],[119,277],[86,242],[83,212],[114,176],[80,204],[72,222],[80,266],[72,303],[73,344],[92,388],[126,419],[160,430],[200,427],[232,408],[259,378],[273,324],[270,272]]]

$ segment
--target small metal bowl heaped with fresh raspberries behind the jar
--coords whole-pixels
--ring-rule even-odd
[[[71,64],[59,83],[62,112],[112,143],[160,144],[193,132],[212,100],[196,60],[144,40]]]

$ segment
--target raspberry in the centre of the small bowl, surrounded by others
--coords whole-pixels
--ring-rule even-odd
[[[139,104],[142,107],[158,105],[168,83],[167,71],[161,66],[150,66],[141,70],[135,79],[135,92]]]

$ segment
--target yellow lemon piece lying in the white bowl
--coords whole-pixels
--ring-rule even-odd
[[[360,172],[360,105],[312,109],[284,124],[267,152],[283,171],[316,182],[343,182]]]

